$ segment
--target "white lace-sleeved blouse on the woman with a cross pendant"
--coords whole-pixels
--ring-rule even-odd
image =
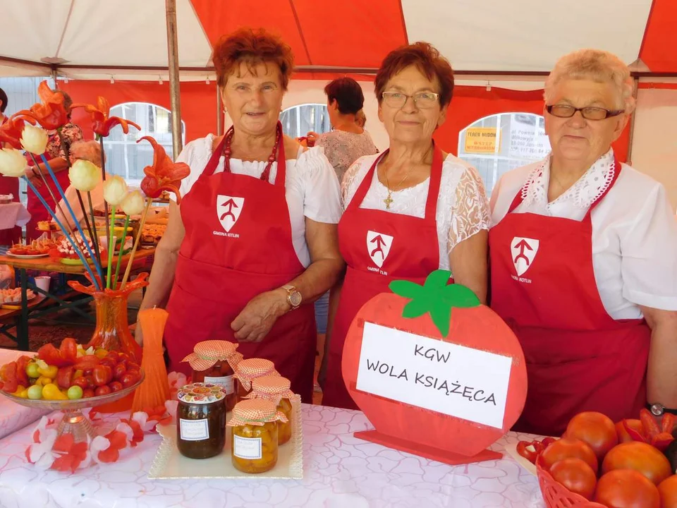
[[[377,157],[379,155],[361,157],[346,171],[341,183],[343,210],[350,204]],[[378,171],[374,171],[372,183],[360,208],[424,217],[429,186],[428,178],[416,186],[393,192],[390,210],[386,210],[384,199],[388,196],[388,189],[379,181]],[[482,229],[489,229],[489,203],[484,183],[474,167],[453,155],[447,155],[442,164],[435,217],[441,270],[449,270],[449,254],[458,243]]]

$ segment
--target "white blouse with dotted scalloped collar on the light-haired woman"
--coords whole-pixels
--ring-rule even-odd
[[[627,164],[590,214],[592,267],[606,312],[616,320],[638,319],[638,306],[677,310],[677,223],[664,187]],[[582,220],[614,177],[609,150],[556,200],[548,202],[550,158],[508,171],[492,193],[492,225],[508,212]]]

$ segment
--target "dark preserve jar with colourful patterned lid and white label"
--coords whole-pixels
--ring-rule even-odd
[[[226,444],[226,392],[221,385],[192,383],[176,394],[176,443],[190,459],[208,459]]]

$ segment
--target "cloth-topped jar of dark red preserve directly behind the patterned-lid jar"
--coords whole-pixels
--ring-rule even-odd
[[[238,402],[235,387],[235,367],[242,360],[238,344],[228,341],[202,341],[195,344],[193,353],[182,361],[193,368],[193,382],[221,385],[226,392],[226,411],[233,411]]]

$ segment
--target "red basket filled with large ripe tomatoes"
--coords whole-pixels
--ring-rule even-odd
[[[602,413],[574,416],[559,439],[520,442],[536,465],[549,508],[677,508],[676,417],[615,423]]]

